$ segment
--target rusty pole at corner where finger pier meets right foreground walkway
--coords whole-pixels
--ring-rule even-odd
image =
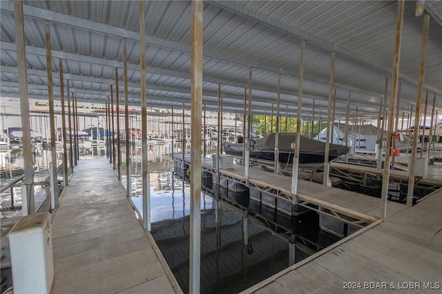
[[[405,1],[398,1],[397,23],[396,23],[396,46],[394,48],[394,61],[392,70],[392,93],[390,96],[390,108],[388,113],[388,127],[387,127],[387,146],[385,148],[385,161],[382,178],[381,191],[381,218],[387,218],[387,201],[388,201],[388,184],[390,183],[390,157],[392,149],[392,137],[394,128],[394,110],[396,108],[396,94],[398,90],[398,75],[399,75],[399,60],[401,59],[401,39],[402,39],[402,24],[403,24],[403,10]]]

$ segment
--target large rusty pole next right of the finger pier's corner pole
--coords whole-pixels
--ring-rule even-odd
[[[423,78],[425,77],[425,58],[427,56],[427,41],[428,30],[430,27],[430,15],[426,14],[423,17],[423,33],[422,33],[422,47],[421,47],[421,66],[419,69],[419,83],[417,87],[417,99],[416,99],[416,111],[414,112],[414,136],[412,143],[412,155],[411,163],[409,166],[408,176],[408,190],[407,190],[407,206],[413,205],[413,190],[414,190],[414,173],[416,169],[416,150],[417,150],[417,137],[416,130],[419,128],[419,115],[421,114],[421,100],[423,91]]]

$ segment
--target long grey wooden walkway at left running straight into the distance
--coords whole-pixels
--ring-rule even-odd
[[[80,160],[52,220],[51,293],[182,293],[107,159]]]

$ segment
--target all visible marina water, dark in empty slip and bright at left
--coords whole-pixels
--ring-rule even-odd
[[[125,153],[122,146],[122,170]],[[180,145],[174,148],[180,153]],[[151,146],[148,151],[151,176],[152,231],[166,262],[184,293],[189,292],[189,214],[190,185],[173,175],[171,145]],[[141,148],[132,147],[132,199],[142,213]],[[35,150],[35,181],[48,177],[50,151]],[[105,158],[104,148],[80,151],[80,158]],[[15,158],[14,162],[10,162]],[[61,153],[57,153],[61,164]],[[1,182],[23,173],[23,154],[12,150],[0,157]],[[125,185],[126,177],[123,174]],[[17,205],[21,205],[19,188],[15,189]],[[248,197],[248,195],[245,195]],[[2,193],[2,206],[10,205],[10,193]],[[244,197],[240,195],[238,197]],[[226,191],[201,195],[201,279],[202,293],[238,293],[289,265],[289,238],[296,240],[296,262],[337,241],[336,237],[318,229],[314,212],[300,217],[275,213],[271,208],[250,202],[246,207],[230,202]],[[5,213],[2,213],[5,215]],[[11,217],[12,215],[8,215]]]

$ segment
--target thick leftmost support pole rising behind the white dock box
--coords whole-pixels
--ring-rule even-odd
[[[28,204],[27,211],[23,208],[23,215],[35,213],[34,197],[34,169],[32,161],[32,145],[30,141],[30,117],[28,99],[28,74],[26,72],[26,50],[23,20],[23,2],[14,1],[15,37],[17,46],[17,70],[19,74],[19,95],[21,128],[23,130],[23,157],[24,157],[24,180],[26,188],[22,188],[22,202]],[[23,194],[23,191],[26,193]]]

